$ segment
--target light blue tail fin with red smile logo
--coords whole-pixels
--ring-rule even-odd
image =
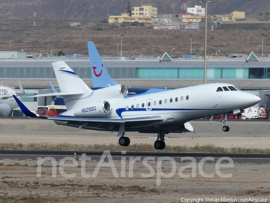
[[[87,42],[88,53],[90,59],[92,81],[94,88],[106,88],[108,86],[118,85],[117,82],[113,81],[110,77],[98,50],[95,47],[94,42]]]

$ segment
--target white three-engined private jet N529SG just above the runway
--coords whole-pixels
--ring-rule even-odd
[[[239,112],[261,99],[226,83],[197,85],[136,97],[124,98],[125,85],[91,90],[63,61],[52,63],[61,92],[33,97],[62,96],[67,111],[57,117],[32,113],[14,95],[19,107],[29,117],[54,120],[58,125],[98,131],[118,131],[119,144],[128,146],[125,132],[157,133],[154,146],[164,149],[165,134],[193,132],[188,121],[209,115]],[[227,128],[227,126],[225,126]]]

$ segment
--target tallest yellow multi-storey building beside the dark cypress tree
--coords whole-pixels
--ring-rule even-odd
[[[143,15],[147,17],[158,17],[158,8],[153,6],[154,4],[141,4],[140,7],[131,8],[132,17]]]

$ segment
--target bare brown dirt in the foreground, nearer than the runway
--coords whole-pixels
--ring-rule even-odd
[[[80,161],[78,161],[80,166]],[[57,165],[59,164],[59,161]],[[70,163],[68,163],[70,164]],[[87,161],[85,172],[93,174],[98,161]],[[52,177],[52,164],[43,163],[41,177],[37,177],[37,161],[0,160],[0,201],[1,202],[182,202],[182,198],[267,198],[270,199],[269,165],[235,164],[232,168],[221,168],[222,178],[215,172],[214,164],[204,164],[202,177],[196,166],[196,177],[180,177],[178,170],[187,163],[177,163],[176,173],[161,177],[157,183],[157,162],[148,162],[155,170],[150,178],[142,177],[149,170],[142,162],[135,162],[133,177],[129,177],[129,162],[126,163],[125,177],[120,177],[121,162],[114,162],[119,177],[114,177],[110,167],[101,167],[96,177],[83,178],[81,168],[66,168],[66,174],[76,173],[76,177],[61,176],[57,167],[56,177]],[[170,174],[171,163],[162,163],[162,173]],[[180,173],[191,174],[191,168]],[[182,201],[181,201],[182,200]],[[214,201],[214,200],[212,200]],[[212,202],[211,201],[211,202]],[[185,201],[186,202],[186,201]],[[232,202],[232,201],[225,201]],[[247,202],[247,201],[245,201]]]

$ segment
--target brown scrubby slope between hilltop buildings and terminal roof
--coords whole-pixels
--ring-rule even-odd
[[[41,24],[33,30],[29,18],[2,20],[0,23],[0,51],[20,51],[47,53],[48,50],[62,50],[64,53],[88,54],[88,41],[95,42],[101,55],[116,56],[117,43],[120,54],[121,37],[123,38],[123,56],[128,52],[133,55],[162,56],[165,51],[175,57],[190,53],[190,35],[192,37],[192,53],[204,55],[204,30],[153,30],[148,27],[114,28],[108,23],[93,23],[89,27],[74,28],[65,26],[64,19],[41,19]],[[25,29],[22,29],[22,28]],[[104,30],[97,31],[98,27]],[[5,28],[5,29],[3,29]],[[269,54],[270,32],[266,29],[238,30],[221,29],[208,31],[209,55],[225,56],[230,53],[256,54],[257,46],[262,43],[264,33],[264,54]],[[262,49],[259,47],[259,54]]]

